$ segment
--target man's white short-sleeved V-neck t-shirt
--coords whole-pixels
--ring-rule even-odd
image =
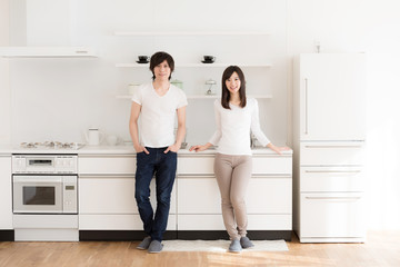
[[[167,93],[160,97],[150,82],[141,85],[134,90],[132,101],[141,106],[139,142],[144,147],[152,148],[173,145],[177,109],[188,105],[184,92],[170,85]]]

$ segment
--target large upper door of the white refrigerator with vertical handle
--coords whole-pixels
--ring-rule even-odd
[[[364,56],[300,56],[300,140],[364,139]]]

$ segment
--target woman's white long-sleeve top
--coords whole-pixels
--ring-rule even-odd
[[[221,100],[214,101],[217,130],[209,140],[217,151],[226,155],[251,155],[250,130],[257,140],[267,146],[270,140],[262,132],[259,121],[259,108],[254,98],[248,98],[244,108],[229,105],[226,109]]]

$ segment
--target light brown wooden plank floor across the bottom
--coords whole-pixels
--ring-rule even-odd
[[[161,253],[132,241],[0,243],[0,266],[400,266],[400,231],[370,231],[366,244],[300,244],[280,253]]]

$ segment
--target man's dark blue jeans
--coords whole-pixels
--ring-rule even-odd
[[[137,154],[134,198],[144,231],[152,240],[162,240],[167,229],[171,191],[177,172],[177,154],[166,148],[146,148],[150,154]],[[150,181],[156,174],[156,216],[150,204]]]

